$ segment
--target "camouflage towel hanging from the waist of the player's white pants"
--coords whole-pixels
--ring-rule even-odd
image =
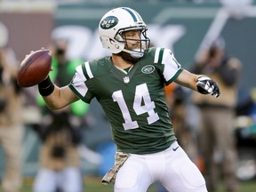
[[[127,154],[124,152],[116,152],[114,166],[104,175],[104,177],[101,180],[101,183],[103,185],[108,185],[109,183],[113,183],[113,184],[115,183],[116,173],[123,166],[124,162],[127,160],[129,156],[130,154]]]

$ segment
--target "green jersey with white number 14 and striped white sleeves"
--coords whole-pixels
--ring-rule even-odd
[[[69,87],[86,103],[100,102],[119,151],[150,154],[176,140],[164,86],[181,71],[169,49],[153,47],[129,71],[116,68],[110,57],[85,62]]]

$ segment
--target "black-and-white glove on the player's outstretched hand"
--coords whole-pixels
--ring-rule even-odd
[[[220,96],[220,88],[216,82],[207,76],[200,76],[196,80],[197,91],[202,94],[211,93],[216,98]]]

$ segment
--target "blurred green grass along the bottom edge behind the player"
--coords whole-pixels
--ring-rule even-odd
[[[33,180],[27,179],[24,180],[24,185],[21,192],[31,192],[31,183]],[[113,192],[113,185],[102,185],[100,178],[85,178],[84,179],[84,192]],[[253,192],[256,191],[256,180],[241,182],[240,188],[237,192]],[[157,192],[155,186],[151,186],[148,189],[148,192]],[[225,192],[223,186],[220,185],[218,192]]]

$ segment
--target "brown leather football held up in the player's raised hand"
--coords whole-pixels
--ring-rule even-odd
[[[52,68],[52,53],[50,50],[31,52],[20,63],[17,83],[21,87],[30,87],[39,84],[48,76]]]

